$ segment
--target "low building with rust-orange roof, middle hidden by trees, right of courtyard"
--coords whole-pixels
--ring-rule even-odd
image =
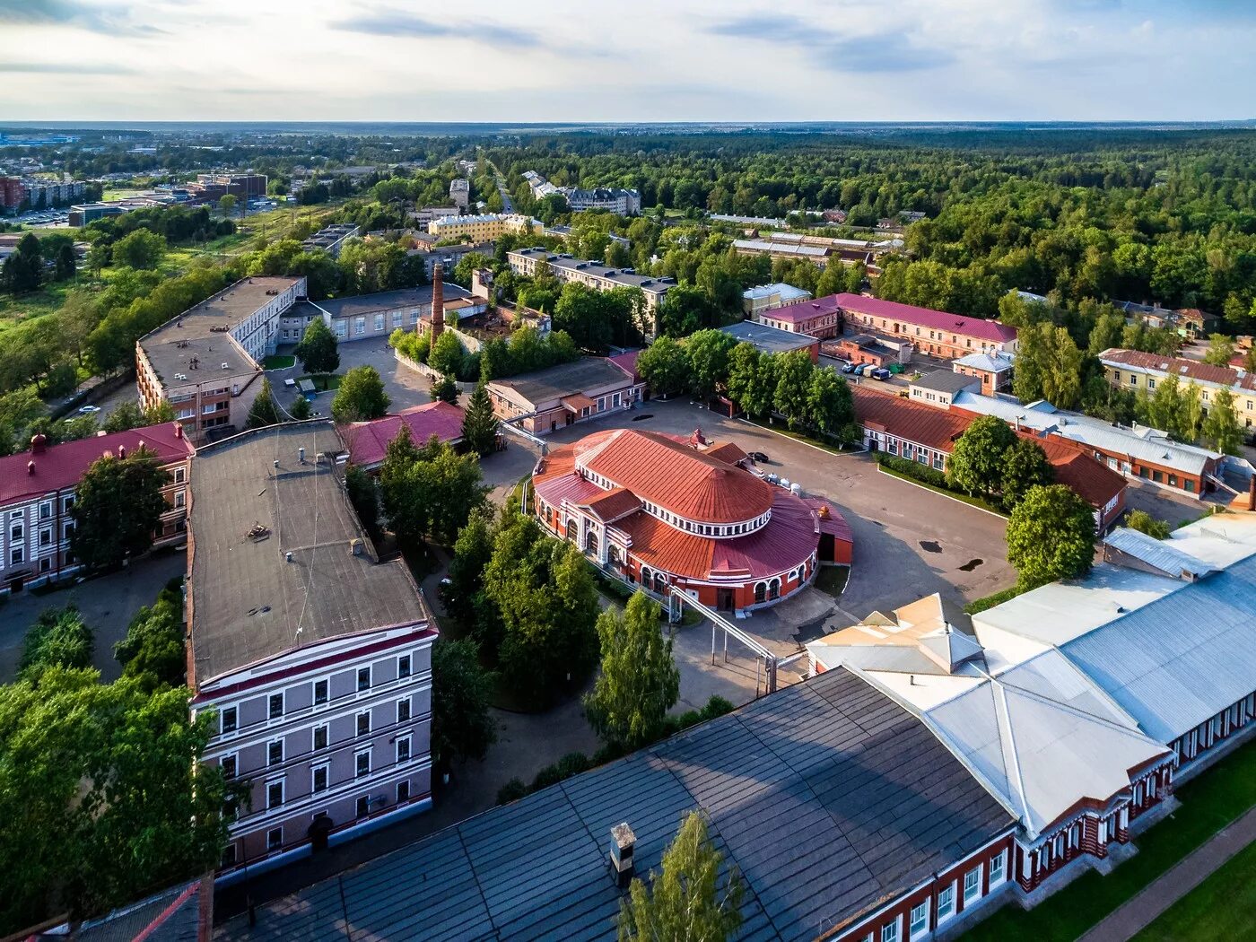
[[[933,408],[862,386],[853,387],[850,392],[865,447],[916,461],[937,471],[946,471],[955,442],[976,418],[970,412]],[[1029,430],[1020,430],[1019,433],[1042,448],[1056,482],[1068,485],[1091,506],[1099,533],[1112,526],[1125,511],[1128,486],[1118,471],[1073,442],[1041,437]]]

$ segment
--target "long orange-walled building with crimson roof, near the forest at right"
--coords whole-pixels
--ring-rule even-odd
[[[1016,328],[997,320],[947,314],[862,294],[839,294],[834,299],[848,324],[911,340],[917,353],[958,359],[971,353],[1016,352]]]

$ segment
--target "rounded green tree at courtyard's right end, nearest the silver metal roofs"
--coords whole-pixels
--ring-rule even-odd
[[[1090,571],[1095,519],[1090,505],[1063,484],[1030,487],[1007,521],[1007,561],[1022,589]]]

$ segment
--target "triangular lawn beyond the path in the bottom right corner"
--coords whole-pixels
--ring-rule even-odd
[[[1134,942],[1208,942],[1256,934],[1256,844],[1166,909]]]

